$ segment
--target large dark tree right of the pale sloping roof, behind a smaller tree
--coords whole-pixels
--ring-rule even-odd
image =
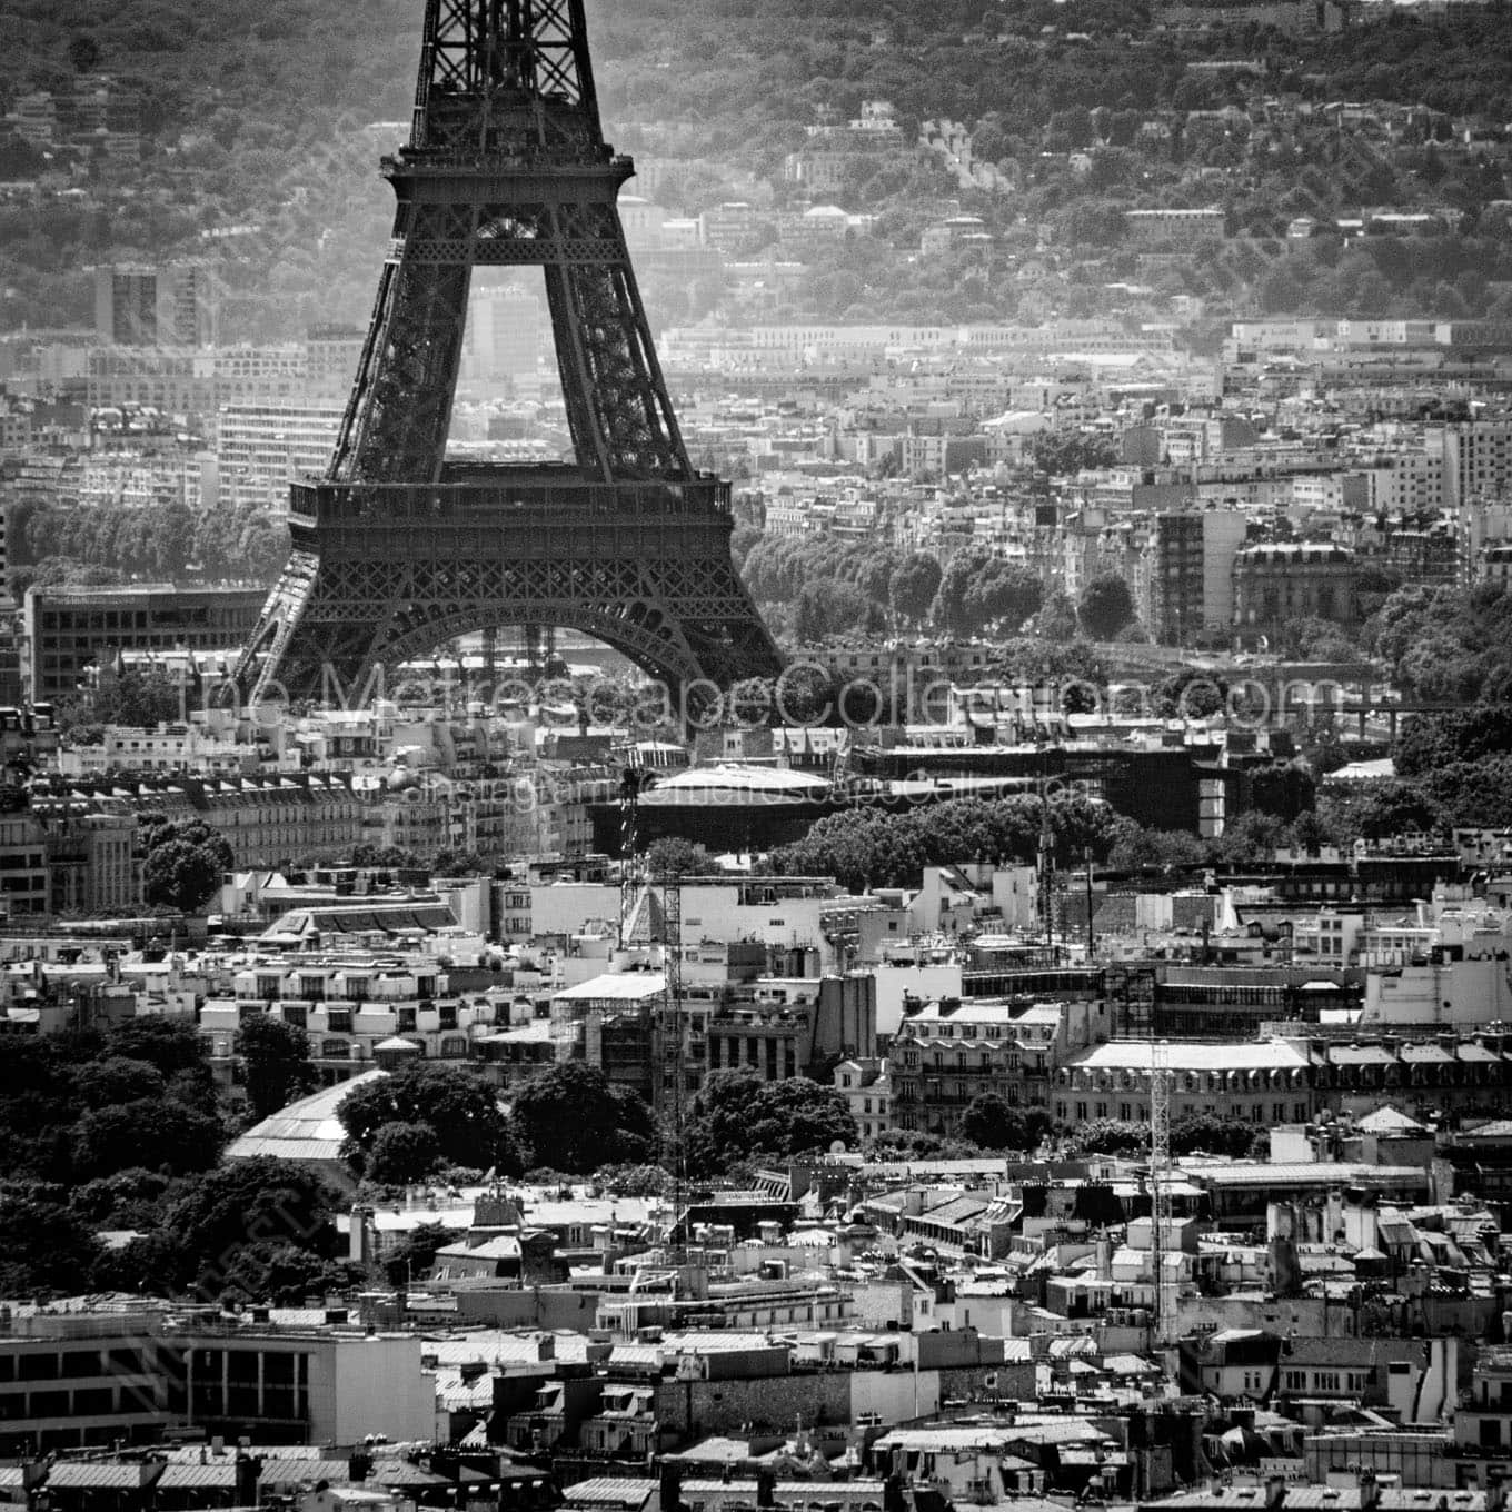
[[[337,1104],[346,1129],[348,1157],[358,1167],[386,1123],[428,1123],[440,1142],[440,1157],[478,1170],[517,1170],[510,1126],[493,1086],[461,1066],[417,1061],[366,1081]]]

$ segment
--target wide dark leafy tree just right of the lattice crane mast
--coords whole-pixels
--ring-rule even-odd
[[[715,1070],[703,1080],[686,1125],[688,1166],[703,1175],[751,1158],[856,1146],[856,1120],[833,1087],[807,1077],[762,1081],[750,1070]]]

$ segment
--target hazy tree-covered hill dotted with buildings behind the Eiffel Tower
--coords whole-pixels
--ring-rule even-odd
[[[364,321],[392,213],[376,159],[402,130],[370,127],[408,116],[422,14],[422,0],[357,8],[330,0],[56,0],[48,8],[0,0],[11,44],[0,54],[8,106],[29,89],[67,88],[86,68],[141,91],[153,147],[139,169],[97,165],[85,180],[92,198],[82,203],[76,195],[41,207],[0,204],[0,327],[88,324],[89,263],[203,249],[207,233],[233,227],[242,228],[237,236],[215,242],[225,254],[227,334],[265,340],[314,321]],[[1379,154],[1335,172],[1311,147],[1311,159],[1302,151],[1250,163],[1237,150],[1204,148],[1205,166],[1222,174],[1202,180],[1187,171],[1190,153],[1173,148],[1152,162],[1148,147],[1131,157],[1123,142],[1090,177],[1043,175],[1042,154],[1063,156],[1086,142],[1087,112],[1096,107],[1132,130],[1172,106],[1199,110],[1238,100],[1231,92],[1237,86],[1219,76],[1194,79],[1193,62],[1255,60],[1267,94],[1423,101],[1448,115],[1512,119],[1512,8],[1488,6],[1452,24],[1394,18],[1328,38],[1234,23],[1222,8],[1214,17],[1210,30],[1161,32],[1160,6],[1148,0],[590,0],[609,139],[643,160],[705,163],[680,200],[676,189],[664,192],[682,213],[717,198],[723,171],[776,178],[783,156],[801,145],[804,125],[848,119],[862,100],[877,97],[892,101],[909,132],[939,116],[981,125],[981,153],[1013,157],[1025,194],[974,204],[974,213],[996,216],[999,234],[1022,216],[1031,243],[1043,227],[1072,257],[1089,245],[1116,249],[1122,207],[1136,197],[1142,204],[1222,198],[1235,225],[1279,236],[1300,203],[1290,194],[1299,165],[1315,159],[1325,189],[1303,204],[1314,213],[1403,194],[1467,209],[1506,195],[1495,165],[1479,178],[1456,166],[1458,177],[1439,192],[1442,165],[1435,160],[1421,165],[1421,178],[1403,177],[1396,160]],[[0,159],[14,160],[0,166],[0,178],[23,177],[32,162],[17,142],[0,142]],[[918,246],[919,219],[954,192],[937,165],[921,165],[851,184],[848,203],[845,192],[839,198],[883,216],[880,239],[901,265]],[[874,248],[844,277],[830,277],[815,290],[813,308],[838,313],[850,299],[877,299],[900,318],[1007,308],[1001,280],[995,287],[978,280],[969,296],[951,301],[931,287],[906,287],[906,269],[888,272],[877,263]],[[888,277],[872,280],[872,272]],[[1219,284],[1235,277],[1220,274]],[[1397,283],[1391,268],[1383,277]],[[950,275],[947,287],[953,280],[960,284]],[[1272,296],[1282,304],[1296,283],[1288,280],[1272,280]],[[1349,313],[1368,304],[1377,286],[1356,278],[1341,287]],[[1350,293],[1358,289],[1365,292]],[[673,293],[680,304],[665,308],[686,308],[686,292]],[[653,302],[659,296],[653,290]],[[1474,287],[1465,298],[1482,313]]]

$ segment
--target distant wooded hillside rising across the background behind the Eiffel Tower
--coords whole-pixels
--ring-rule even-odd
[[[207,249],[224,280],[225,339],[363,322],[392,209],[376,159],[404,132],[422,9],[0,0],[8,109],[29,91],[106,76],[118,94],[139,92],[144,135],[141,162],[67,150],[44,159],[0,136],[0,180],[50,178],[39,198],[0,200],[0,328],[88,324],[92,263]],[[892,101],[907,141],[922,119],[963,122],[977,159],[1007,171],[1016,187],[993,197],[963,191],[940,159],[907,153],[847,177],[833,198],[875,213],[877,230],[798,290],[807,314],[1084,313],[1092,290],[1131,277],[1113,262],[1125,209],[1207,203],[1225,207],[1240,245],[1172,274],[1161,292],[1243,293],[1297,311],[1387,313],[1397,301],[1418,313],[1504,313],[1488,286],[1512,266],[1498,227],[1479,224],[1507,197],[1504,166],[1498,153],[1447,142],[1453,116],[1512,119],[1503,6],[1326,38],[1252,24],[1172,32],[1158,6],[1108,0],[596,0],[590,27],[609,139],[643,160],[697,165],[658,187],[671,212],[717,204],[742,174],[780,195],[783,157],[806,127],[844,122],[868,98]],[[1247,71],[1193,68],[1220,60]],[[1259,132],[1253,110],[1238,119],[1259,97],[1423,103],[1438,115],[1411,142],[1352,136],[1321,112]],[[951,200],[984,218],[996,266],[916,266],[921,224]],[[1382,265],[1285,245],[1296,215],[1382,204],[1462,219],[1444,245],[1424,239],[1426,271],[1411,256]],[[1025,263],[1036,259],[1054,286],[1021,308],[1016,290],[1033,284]],[[1462,283],[1461,268],[1479,277]],[[662,295],[649,298],[665,319],[711,302]]]

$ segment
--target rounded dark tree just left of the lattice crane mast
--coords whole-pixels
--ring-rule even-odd
[[[588,1175],[611,1161],[634,1164],[656,1155],[652,1110],[581,1060],[559,1061],[526,1081],[510,1116],[532,1166]]]

